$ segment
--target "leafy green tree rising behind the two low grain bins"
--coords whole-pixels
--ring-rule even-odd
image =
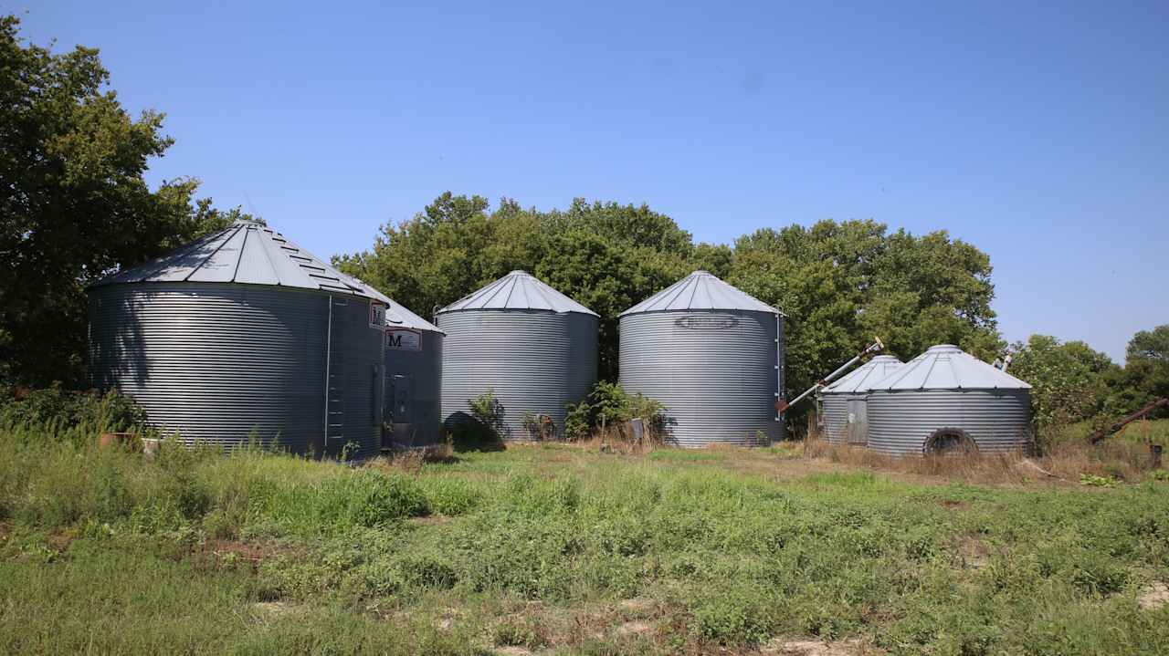
[[[740,237],[727,280],[788,315],[790,398],[873,336],[902,360],[942,342],[992,358],[1001,341],[990,273],[985,253],[946,232],[822,221]]]

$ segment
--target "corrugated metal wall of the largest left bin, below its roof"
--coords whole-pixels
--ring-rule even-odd
[[[375,455],[381,330],[366,299],[251,285],[147,282],[90,291],[90,374],[164,431],[293,453]],[[326,340],[332,337],[326,400]],[[326,428],[326,405],[331,412]],[[326,430],[334,439],[325,447]]]

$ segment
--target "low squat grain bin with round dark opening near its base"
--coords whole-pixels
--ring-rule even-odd
[[[1005,453],[1031,444],[1031,385],[939,344],[869,390],[869,447],[891,455]]]

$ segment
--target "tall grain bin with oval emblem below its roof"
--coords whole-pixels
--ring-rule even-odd
[[[666,407],[669,442],[783,435],[783,315],[705,271],[621,313],[621,385]]]

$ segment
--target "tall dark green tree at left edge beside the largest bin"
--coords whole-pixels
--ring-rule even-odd
[[[106,89],[91,48],[54,54],[0,16],[0,377],[84,376],[84,286],[229,222],[192,204],[194,179],[150,189],[150,158],[172,140],[162,114],[137,120]]]

